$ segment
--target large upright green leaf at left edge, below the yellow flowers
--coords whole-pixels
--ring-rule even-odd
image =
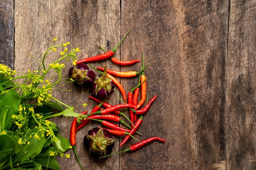
[[[19,106],[20,106],[20,97],[15,90],[12,90],[12,89],[9,90],[2,97],[2,99],[0,100],[0,109],[1,109],[0,120],[2,124],[1,131],[11,130],[11,128],[13,127],[13,119],[11,118],[11,116],[18,114]]]

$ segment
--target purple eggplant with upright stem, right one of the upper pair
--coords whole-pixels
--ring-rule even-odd
[[[104,73],[101,77],[94,80],[92,84],[92,94],[99,99],[106,99],[108,95],[112,94],[115,84],[112,79],[107,77],[107,68],[104,66]]]

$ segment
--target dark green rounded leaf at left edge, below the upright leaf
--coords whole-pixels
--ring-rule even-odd
[[[11,135],[0,135],[0,161],[7,155],[11,155],[16,145]]]

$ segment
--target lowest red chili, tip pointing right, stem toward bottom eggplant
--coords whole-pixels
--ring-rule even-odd
[[[162,142],[166,142],[166,140],[160,138],[160,137],[150,137],[148,139],[144,139],[140,142],[138,142],[137,144],[134,144],[132,146],[130,146],[129,148],[127,148],[126,150],[122,150],[120,152],[116,152],[116,153],[113,153],[113,154],[110,154],[110,155],[106,155],[106,156],[103,156],[103,157],[99,157],[99,158],[104,158],[104,157],[109,157],[111,155],[115,155],[115,154],[118,154],[118,153],[122,153],[122,152],[128,152],[128,151],[135,151],[139,148],[142,148],[143,146],[145,146],[146,144],[149,144],[151,143],[152,141],[162,141]]]

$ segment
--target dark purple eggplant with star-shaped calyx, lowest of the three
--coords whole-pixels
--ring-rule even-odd
[[[103,128],[92,128],[88,131],[88,135],[83,138],[83,144],[94,158],[109,155],[112,152],[115,139],[111,133]]]

